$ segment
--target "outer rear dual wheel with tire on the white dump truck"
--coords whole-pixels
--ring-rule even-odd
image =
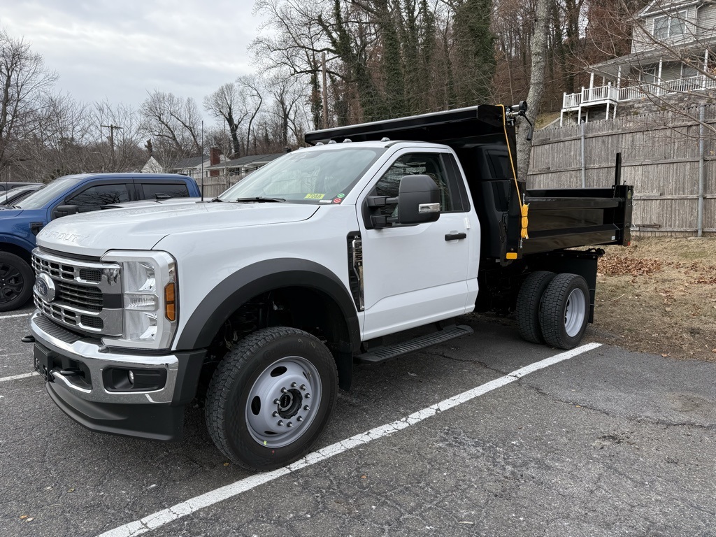
[[[589,320],[589,286],[578,274],[557,274],[544,291],[539,309],[542,336],[558,349],[574,349]]]

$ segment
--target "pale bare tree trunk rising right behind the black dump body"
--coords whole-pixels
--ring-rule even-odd
[[[544,95],[544,72],[547,60],[547,30],[549,10],[552,0],[538,0],[537,18],[532,37],[532,70],[530,74],[530,91],[527,94],[527,117],[534,124],[539,113],[542,95]],[[525,140],[524,129],[520,130],[517,140],[518,176],[527,180],[530,165],[532,142]]]

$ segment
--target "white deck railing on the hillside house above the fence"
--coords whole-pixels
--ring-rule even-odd
[[[580,105],[596,105],[600,102],[623,102],[641,99],[642,97],[672,95],[674,93],[695,92],[701,89],[716,87],[716,79],[700,74],[696,77],[664,80],[638,86],[616,88],[611,84],[599,87],[585,87],[579,93],[565,93],[562,97],[562,108],[577,108]]]

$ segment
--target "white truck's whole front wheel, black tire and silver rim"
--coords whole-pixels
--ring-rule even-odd
[[[338,374],[319,339],[284,326],[261,329],[214,372],[205,405],[212,440],[249,470],[274,470],[309,452],[332,415]]]

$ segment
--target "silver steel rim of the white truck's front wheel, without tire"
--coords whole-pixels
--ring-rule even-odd
[[[321,404],[321,377],[309,360],[277,360],[253,382],[246,400],[248,432],[267,448],[283,448],[311,426]]]

